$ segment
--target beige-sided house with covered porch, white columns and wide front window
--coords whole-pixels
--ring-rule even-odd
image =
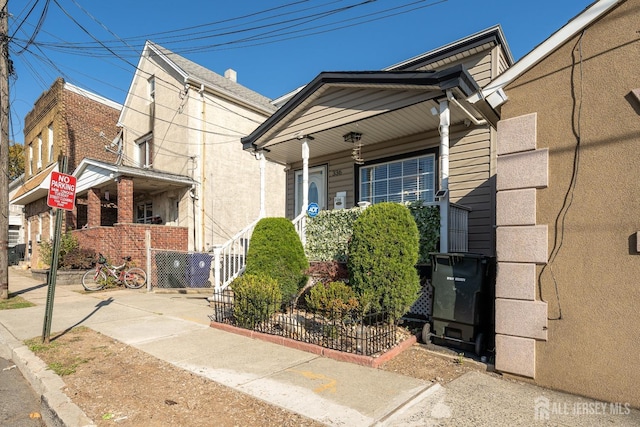
[[[303,240],[310,203],[422,200],[440,207],[442,252],[494,256],[498,115],[467,97],[512,62],[495,26],[384,70],[323,72],[281,98],[243,148],[286,165],[286,216]]]

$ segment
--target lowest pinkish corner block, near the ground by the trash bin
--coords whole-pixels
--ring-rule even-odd
[[[534,378],[536,340],[496,335],[496,370]]]

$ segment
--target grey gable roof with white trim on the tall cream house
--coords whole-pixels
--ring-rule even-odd
[[[145,43],[142,55],[140,55],[140,60],[136,67],[136,75],[131,82],[127,98],[124,102],[125,106],[128,105],[134,81],[141,71],[142,61],[149,57],[154,57],[158,63],[164,63],[169,69],[178,73],[183,78],[184,84],[192,83],[203,85],[211,92],[218,93],[220,96],[232,101],[243,103],[267,115],[270,115],[276,110],[276,107],[266,96],[252,91],[231,79],[223,77],[149,40]],[[125,109],[126,108],[123,108],[122,110],[120,119],[118,120],[119,123],[122,122],[122,115]]]

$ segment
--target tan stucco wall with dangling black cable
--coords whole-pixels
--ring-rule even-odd
[[[548,227],[550,262],[536,267],[532,302],[547,303],[548,330],[528,349],[532,376],[636,407],[640,103],[630,92],[640,87],[638,16],[640,1],[624,2],[510,84],[502,107],[503,120],[535,114],[537,148],[548,149],[548,186],[535,190],[533,209],[536,224]]]

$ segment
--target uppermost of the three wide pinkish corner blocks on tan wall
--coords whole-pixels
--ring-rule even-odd
[[[498,157],[498,191],[544,188],[549,185],[549,149]]]

